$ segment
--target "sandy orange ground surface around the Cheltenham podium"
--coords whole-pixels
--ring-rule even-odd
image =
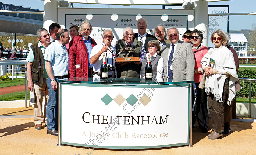
[[[1,118],[18,117],[18,115],[33,115],[33,107],[0,109],[0,154],[33,154],[33,155],[87,155],[89,150],[78,146],[56,146],[58,136],[47,134],[47,127],[36,130],[34,118]],[[192,145],[194,147],[176,146],[159,149],[135,149],[123,151],[120,149],[94,149],[91,155],[148,155],[148,154],[256,154],[256,122],[238,122],[231,124],[231,133],[224,134],[222,139],[209,140],[207,135],[212,132],[209,120],[208,133],[201,133],[198,128],[192,128]],[[72,131],[70,131],[72,132]]]

